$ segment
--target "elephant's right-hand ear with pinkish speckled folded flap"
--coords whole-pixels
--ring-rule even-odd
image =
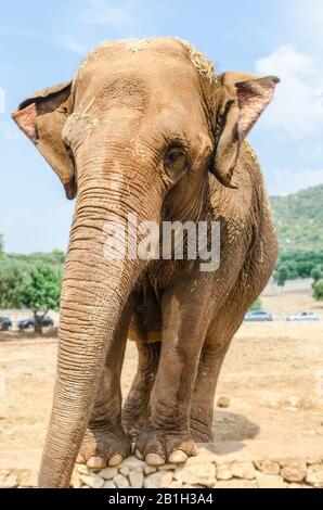
[[[231,183],[242,141],[270,103],[276,84],[275,76],[257,78],[243,73],[221,76],[221,104],[215,127],[216,155],[211,173],[227,188]]]

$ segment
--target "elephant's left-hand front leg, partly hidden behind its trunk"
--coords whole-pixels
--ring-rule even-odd
[[[92,415],[77,462],[89,468],[116,466],[131,452],[131,443],[121,424],[120,374],[131,310],[128,304],[116,329],[105,360]]]

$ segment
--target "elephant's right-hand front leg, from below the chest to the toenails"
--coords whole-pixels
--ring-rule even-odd
[[[196,315],[195,299],[190,303],[189,297],[185,292],[163,302],[162,353],[150,418],[135,443],[135,455],[152,466],[184,462],[196,455],[190,413],[208,314]],[[184,298],[185,307],[180,306]]]

